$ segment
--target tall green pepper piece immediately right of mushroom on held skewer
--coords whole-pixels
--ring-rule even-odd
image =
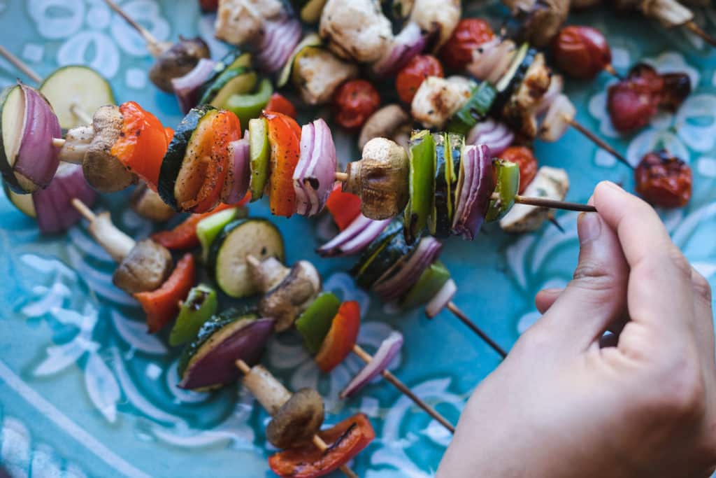
[[[435,204],[435,140],[428,130],[410,136],[410,200],[405,208],[403,232],[408,244],[427,226]]]

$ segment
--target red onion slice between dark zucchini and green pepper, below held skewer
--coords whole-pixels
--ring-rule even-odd
[[[407,262],[392,277],[379,280],[373,290],[380,296],[383,302],[391,302],[404,295],[410,287],[415,285],[420,274],[427,269],[432,262],[435,262],[440,255],[442,244],[435,237],[428,236],[420,239],[415,251]]]

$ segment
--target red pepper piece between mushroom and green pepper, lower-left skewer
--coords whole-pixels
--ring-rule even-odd
[[[179,302],[185,299],[194,285],[194,274],[194,256],[184,254],[159,289],[150,292],[137,292],[134,295],[147,314],[150,333],[158,332],[176,317],[179,312]]]

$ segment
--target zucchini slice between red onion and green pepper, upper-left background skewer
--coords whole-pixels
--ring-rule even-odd
[[[223,64],[225,63],[222,61],[218,65]],[[245,93],[253,90],[257,77],[251,70],[251,54],[240,54],[227,65],[218,75],[216,75],[218,68],[215,67],[215,74],[204,82],[200,90],[200,105],[223,107],[223,102],[226,102],[234,92]]]

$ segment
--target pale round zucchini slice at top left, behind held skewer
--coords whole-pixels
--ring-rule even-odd
[[[60,128],[69,130],[84,122],[72,113],[77,105],[89,115],[100,106],[114,105],[115,95],[110,83],[99,72],[82,65],[70,65],[54,70],[39,87],[52,105]]]

